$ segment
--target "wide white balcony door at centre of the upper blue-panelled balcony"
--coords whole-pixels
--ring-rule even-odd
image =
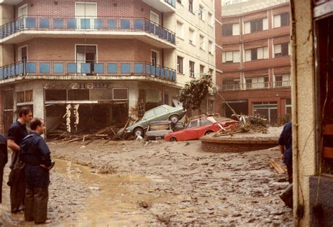
[[[94,20],[97,18],[97,4],[89,2],[75,3],[75,18],[77,29],[94,29]]]

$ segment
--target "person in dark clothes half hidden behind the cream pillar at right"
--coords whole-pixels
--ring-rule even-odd
[[[279,147],[281,151],[281,160],[287,165],[288,172],[288,188],[280,195],[287,207],[292,208],[292,121],[289,121],[283,127],[279,139]]]

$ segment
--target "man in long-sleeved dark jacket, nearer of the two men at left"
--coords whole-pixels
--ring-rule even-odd
[[[33,118],[31,132],[20,145],[20,159],[25,163],[25,221],[45,223],[47,219],[48,184],[51,156],[44,133],[44,121]]]

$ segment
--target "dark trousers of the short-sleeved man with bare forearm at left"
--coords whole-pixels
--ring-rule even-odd
[[[24,174],[11,186],[11,212],[18,212],[25,205],[25,179]]]

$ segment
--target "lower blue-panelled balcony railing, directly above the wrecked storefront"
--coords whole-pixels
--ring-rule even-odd
[[[0,67],[0,79],[15,76],[151,76],[167,81],[176,81],[176,70],[150,62],[79,62],[28,60]]]

